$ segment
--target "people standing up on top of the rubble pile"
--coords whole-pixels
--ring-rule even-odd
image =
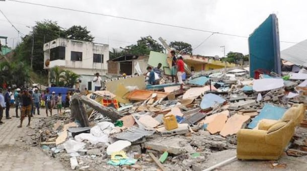
[[[179,82],[180,90],[183,90],[183,75],[185,73],[184,70],[184,62],[181,55],[176,56],[175,50],[171,51],[172,55],[172,68],[171,68],[171,76],[172,82]],[[151,66],[147,67],[147,73],[144,75],[148,77],[148,83],[151,85],[159,84],[160,79],[157,79],[160,76],[162,77],[163,71],[161,69],[162,64],[159,63],[157,67],[152,68]]]

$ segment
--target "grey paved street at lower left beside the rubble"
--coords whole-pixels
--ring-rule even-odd
[[[14,110],[15,111],[15,110]],[[13,109],[10,110],[11,116]],[[42,116],[45,112],[41,110]],[[38,122],[37,115],[32,119],[31,126]],[[23,128],[17,128],[19,118],[3,119],[5,124],[0,125],[0,170],[65,170],[64,166],[57,160],[50,158],[39,147],[27,145],[26,136],[31,135],[34,130],[26,127],[28,120],[25,119]],[[29,139],[29,138],[28,138]]]

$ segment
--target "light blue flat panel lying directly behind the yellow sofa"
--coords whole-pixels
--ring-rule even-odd
[[[248,125],[248,128],[253,129],[262,119],[279,120],[287,109],[270,104],[265,104],[258,116]]]

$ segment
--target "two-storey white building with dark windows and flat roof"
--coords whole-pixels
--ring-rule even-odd
[[[96,72],[108,72],[109,45],[58,38],[44,44],[44,68],[59,66],[81,75],[80,90],[94,90]]]

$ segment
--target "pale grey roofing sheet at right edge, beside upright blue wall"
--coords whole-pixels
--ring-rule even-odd
[[[281,58],[296,65],[307,66],[307,40],[282,50]]]

